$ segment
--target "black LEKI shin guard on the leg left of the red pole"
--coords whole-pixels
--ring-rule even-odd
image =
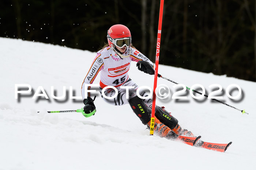
[[[143,124],[147,124],[151,119],[151,110],[138,96],[129,100],[133,112],[140,118]]]

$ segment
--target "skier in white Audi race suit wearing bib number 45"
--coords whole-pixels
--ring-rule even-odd
[[[137,62],[136,66],[140,71],[153,75],[155,72],[153,63],[131,45],[131,32],[125,25],[117,24],[110,27],[107,32],[107,38],[108,44],[97,52],[82,84],[83,103],[85,105],[83,115],[89,117],[96,112],[94,105],[95,98],[92,99],[90,97],[90,92],[86,95],[84,90],[85,88],[87,90],[90,89],[88,84],[92,84],[99,71],[101,71],[99,85],[103,100],[119,106],[129,103],[133,112],[142,123],[150,127],[152,100],[141,99],[136,95],[138,86],[129,78],[128,71],[133,61]],[[116,87],[118,94],[115,98],[107,99],[103,97],[102,89],[106,86]],[[122,86],[133,87],[133,89],[129,88],[128,99],[126,98],[127,90],[126,88],[122,88]],[[104,94],[107,97],[111,97],[116,94],[116,91],[113,88],[108,88]],[[147,96],[146,92],[142,92],[140,95],[143,97]],[[167,139],[176,139],[178,135],[194,137],[190,131],[186,129],[182,130],[178,124],[178,120],[159,106],[155,108],[154,132],[160,137]]]

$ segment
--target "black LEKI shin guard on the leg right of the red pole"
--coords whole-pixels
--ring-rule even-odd
[[[162,122],[172,130],[178,124],[178,120],[174,118],[172,115],[170,115],[169,112],[167,112],[162,107],[157,106],[155,116],[160,120],[160,122]]]

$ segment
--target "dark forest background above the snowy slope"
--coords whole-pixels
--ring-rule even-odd
[[[98,51],[113,24],[155,61],[160,0],[1,0],[0,36]],[[256,0],[165,0],[160,64],[256,80]]]

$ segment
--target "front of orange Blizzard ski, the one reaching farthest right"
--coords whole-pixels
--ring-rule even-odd
[[[221,143],[210,143],[204,141],[198,141],[194,146],[201,147],[209,150],[214,150],[218,152],[225,152],[232,142],[221,144]]]

